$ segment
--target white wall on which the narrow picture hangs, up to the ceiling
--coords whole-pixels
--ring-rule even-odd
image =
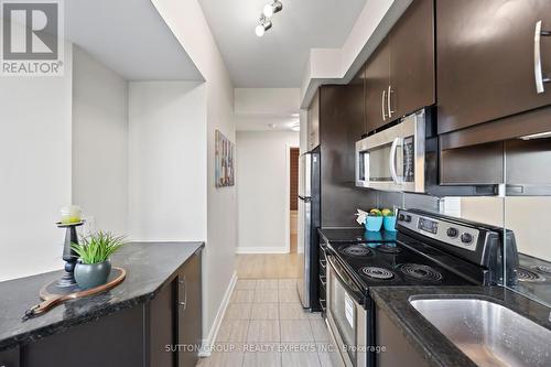
[[[234,86],[197,0],[152,0],[205,78],[207,110],[207,242],[203,261],[203,336],[213,341],[220,306],[235,280],[236,187],[215,187],[214,137],[235,141]],[[215,323],[216,321],[216,323]]]

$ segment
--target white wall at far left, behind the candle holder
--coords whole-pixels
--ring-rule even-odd
[[[71,203],[72,46],[63,77],[0,80],[0,281],[63,267]]]

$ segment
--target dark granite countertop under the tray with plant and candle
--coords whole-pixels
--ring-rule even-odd
[[[24,322],[25,310],[40,302],[40,289],[63,272],[0,282],[0,350],[148,302],[203,247],[203,242],[130,242],[111,259],[114,266],[127,270],[121,284],[106,293],[68,301]]]

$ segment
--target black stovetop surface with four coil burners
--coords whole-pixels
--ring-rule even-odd
[[[370,287],[472,284],[465,278],[398,241],[333,241],[329,247],[365,292]]]

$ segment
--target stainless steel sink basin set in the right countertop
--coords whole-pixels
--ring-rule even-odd
[[[478,366],[551,366],[551,331],[500,304],[477,299],[410,303]]]

